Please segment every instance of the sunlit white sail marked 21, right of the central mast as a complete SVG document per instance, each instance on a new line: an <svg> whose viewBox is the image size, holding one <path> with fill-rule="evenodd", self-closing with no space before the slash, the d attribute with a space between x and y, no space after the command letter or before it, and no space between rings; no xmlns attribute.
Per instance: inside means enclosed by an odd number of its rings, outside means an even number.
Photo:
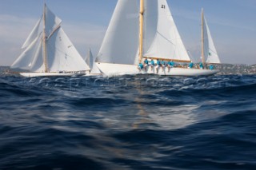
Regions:
<svg viewBox="0 0 256 170"><path fill-rule="evenodd" d="M147 1L149 2L150 0ZM154 41L151 43L150 49L146 51L144 56L173 59L177 61L190 61L190 57L183 45L166 0L158 0L157 2L157 4L151 2L151 5L157 7L157 30L154 35ZM152 6L148 7L152 8ZM147 11L147 9L145 9L145 11ZM148 20L149 19L147 19L147 21ZM150 29L150 27L146 26L145 29ZM145 42L148 42L148 40L145 39Z"/></svg>

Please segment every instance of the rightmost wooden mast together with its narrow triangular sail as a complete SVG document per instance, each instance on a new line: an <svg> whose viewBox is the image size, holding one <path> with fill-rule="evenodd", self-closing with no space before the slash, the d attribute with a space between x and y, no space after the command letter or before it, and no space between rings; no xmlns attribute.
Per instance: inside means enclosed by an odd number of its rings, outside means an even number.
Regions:
<svg viewBox="0 0 256 170"><path fill-rule="evenodd" d="M205 58L206 61L205 61ZM220 64L217 50L214 45L213 38L210 34L209 26L206 22L202 9L202 62L206 64Z"/></svg>

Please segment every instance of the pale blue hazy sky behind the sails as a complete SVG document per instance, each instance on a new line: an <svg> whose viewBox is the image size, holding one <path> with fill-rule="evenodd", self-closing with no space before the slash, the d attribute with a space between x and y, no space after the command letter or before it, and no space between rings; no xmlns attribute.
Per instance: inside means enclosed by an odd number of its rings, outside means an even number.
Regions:
<svg viewBox="0 0 256 170"><path fill-rule="evenodd" d="M154 1L154 0L152 0ZM11 65L46 2L82 57L94 56L118 0L0 0L0 65ZM167 0L186 49L199 60L201 9L222 63L256 64L256 0Z"/></svg>

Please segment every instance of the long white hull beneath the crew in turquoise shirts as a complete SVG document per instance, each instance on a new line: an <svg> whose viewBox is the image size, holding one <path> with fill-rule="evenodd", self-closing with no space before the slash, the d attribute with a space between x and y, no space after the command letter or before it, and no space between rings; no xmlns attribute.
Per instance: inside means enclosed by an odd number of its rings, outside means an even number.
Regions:
<svg viewBox="0 0 256 170"><path fill-rule="evenodd" d="M110 64L110 63L96 63L98 69L102 71L106 76L119 76L119 75L134 75L134 74L158 74L158 75L168 75L168 76L210 76L218 73L218 70L210 69L188 69L188 68L158 68L154 66L151 69L147 66L146 69L138 69L138 65L120 65L120 64Z"/></svg>

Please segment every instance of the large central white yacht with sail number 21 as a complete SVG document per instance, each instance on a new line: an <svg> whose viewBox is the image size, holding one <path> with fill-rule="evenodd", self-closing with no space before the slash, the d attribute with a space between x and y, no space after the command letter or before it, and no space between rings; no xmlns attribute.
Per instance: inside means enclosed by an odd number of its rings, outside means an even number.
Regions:
<svg viewBox="0 0 256 170"><path fill-rule="evenodd" d="M182 65L138 69L146 59L190 63L166 0L118 0L96 64L106 76L154 73L170 76L213 75L217 70Z"/></svg>

